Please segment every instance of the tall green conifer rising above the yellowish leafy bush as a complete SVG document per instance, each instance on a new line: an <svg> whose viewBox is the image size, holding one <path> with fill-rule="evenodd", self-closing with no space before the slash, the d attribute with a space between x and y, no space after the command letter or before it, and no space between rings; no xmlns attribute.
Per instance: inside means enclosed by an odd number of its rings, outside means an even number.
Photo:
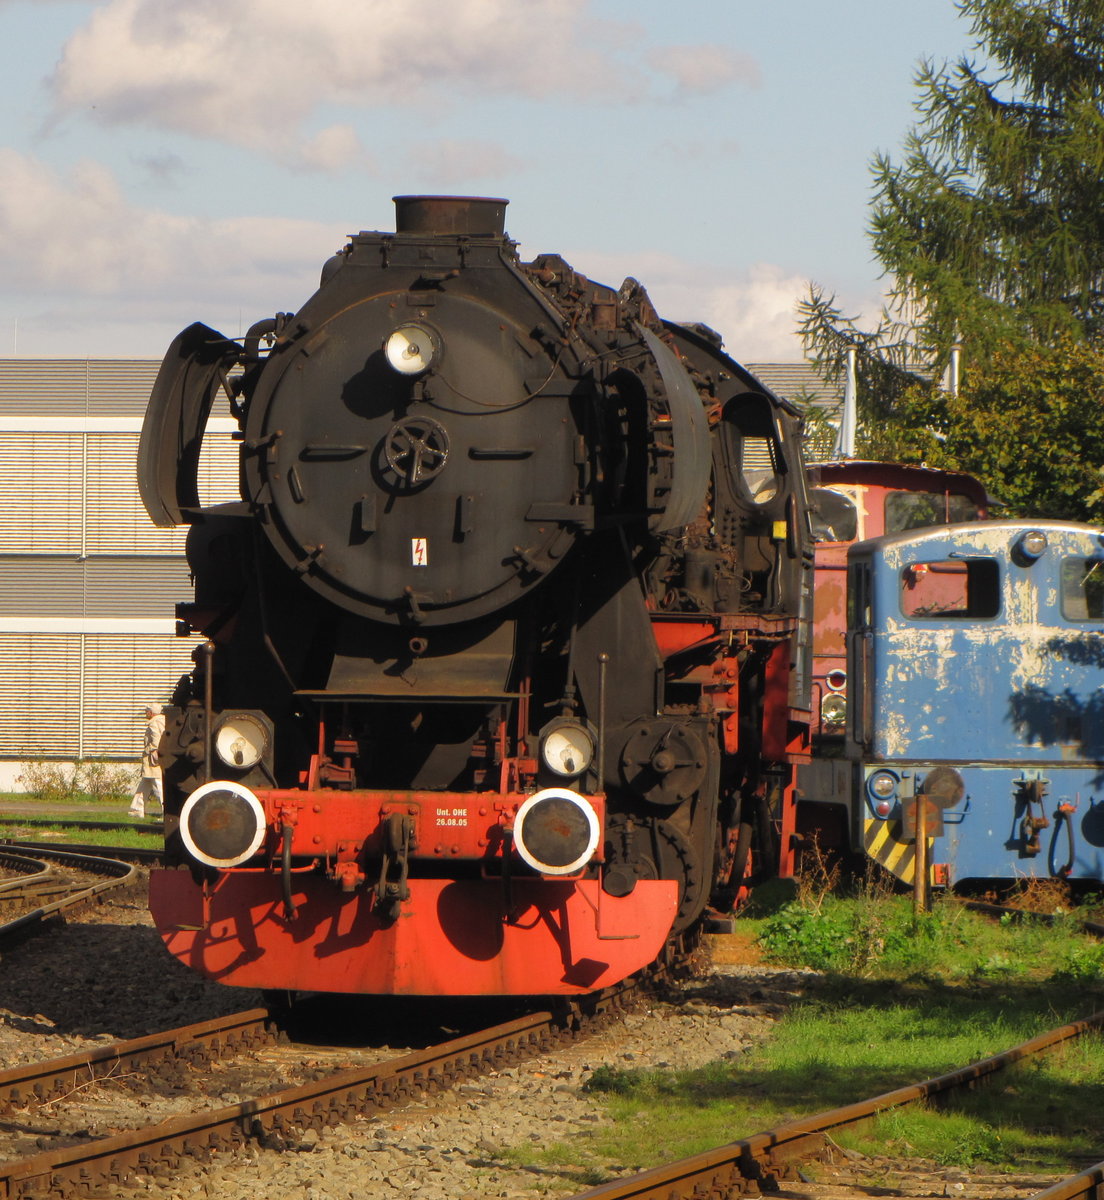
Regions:
<svg viewBox="0 0 1104 1200"><path fill-rule="evenodd" d="M902 162L874 162L893 298L937 356L1104 340L1104 0L958 7L980 58L924 62Z"/></svg>

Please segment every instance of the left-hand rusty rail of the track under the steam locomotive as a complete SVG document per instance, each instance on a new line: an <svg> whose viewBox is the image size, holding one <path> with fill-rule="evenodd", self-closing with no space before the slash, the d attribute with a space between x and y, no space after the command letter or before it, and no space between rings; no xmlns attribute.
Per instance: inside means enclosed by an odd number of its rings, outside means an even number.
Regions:
<svg viewBox="0 0 1104 1200"><path fill-rule="evenodd" d="M251 1008L233 1016L115 1042L64 1058L24 1063L0 1072L0 1112L28 1103L49 1103L92 1080L109 1079L158 1062L206 1063L220 1054L274 1040L269 1010Z"/></svg>

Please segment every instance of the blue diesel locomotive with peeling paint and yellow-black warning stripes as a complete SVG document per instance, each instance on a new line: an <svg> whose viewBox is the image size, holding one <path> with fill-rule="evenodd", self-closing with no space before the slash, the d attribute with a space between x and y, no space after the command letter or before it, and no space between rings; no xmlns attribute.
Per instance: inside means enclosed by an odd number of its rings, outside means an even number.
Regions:
<svg viewBox="0 0 1104 1200"><path fill-rule="evenodd" d="M942 526L847 570L852 850L913 883L919 824L935 884L1104 878L1104 529Z"/></svg>

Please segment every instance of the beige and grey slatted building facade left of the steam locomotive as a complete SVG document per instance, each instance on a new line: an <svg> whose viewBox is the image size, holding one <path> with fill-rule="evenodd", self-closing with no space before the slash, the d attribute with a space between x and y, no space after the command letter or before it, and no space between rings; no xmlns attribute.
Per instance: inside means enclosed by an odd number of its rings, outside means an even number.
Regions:
<svg viewBox="0 0 1104 1200"><path fill-rule="evenodd" d="M158 365L0 359L0 760L137 758L142 708L191 665L185 530L155 528L136 482ZM205 503L238 498L226 424Z"/></svg>

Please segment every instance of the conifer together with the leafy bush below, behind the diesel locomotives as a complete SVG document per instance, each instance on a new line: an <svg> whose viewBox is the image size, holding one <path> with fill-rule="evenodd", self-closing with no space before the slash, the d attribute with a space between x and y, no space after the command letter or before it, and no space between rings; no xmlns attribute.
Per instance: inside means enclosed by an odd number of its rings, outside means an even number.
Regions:
<svg viewBox="0 0 1104 1200"><path fill-rule="evenodd" d="M899 162L872 163L890 305L818 287L806 353L857 350L859 452L979 475L1009 512L1104 520L1104 0L955 0L974 37L922 64ZM941 386L964 347L962 392Z"/></svg>

